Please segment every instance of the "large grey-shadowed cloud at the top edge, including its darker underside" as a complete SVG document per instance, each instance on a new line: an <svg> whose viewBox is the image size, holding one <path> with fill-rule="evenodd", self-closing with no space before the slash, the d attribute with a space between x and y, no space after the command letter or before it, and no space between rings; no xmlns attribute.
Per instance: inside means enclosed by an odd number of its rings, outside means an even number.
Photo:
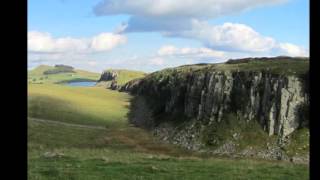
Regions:
<svg viewBox="0 0 320 180"><path fill-rule="evenodd" d="M97 16L130 15L122 32L176 31L191 28L193 19L210 19L240 13L287 0L103 0ZM125 28L124 28L125 27Z"/></svg>

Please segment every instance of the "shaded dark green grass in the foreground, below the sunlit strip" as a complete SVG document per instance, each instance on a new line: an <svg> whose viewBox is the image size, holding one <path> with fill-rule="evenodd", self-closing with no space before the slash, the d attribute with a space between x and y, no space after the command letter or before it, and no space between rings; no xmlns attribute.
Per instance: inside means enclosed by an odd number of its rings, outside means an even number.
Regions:
<svg viewBox="0 0 320 180"><path fill-rule="evenodd" d="M136 128L104 131L29 121L28 129L29 179L308 179L305 165L202 158Z"/></svg>

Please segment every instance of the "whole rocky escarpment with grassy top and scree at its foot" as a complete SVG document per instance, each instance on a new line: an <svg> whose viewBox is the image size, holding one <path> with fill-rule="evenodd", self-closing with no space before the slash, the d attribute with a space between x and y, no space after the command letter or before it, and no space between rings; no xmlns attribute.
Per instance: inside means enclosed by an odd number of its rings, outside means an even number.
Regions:
<svg viewBox="0 0 320 180"><path fill-rule="evenodd" d="M136 102L147 109L148 120L135 118L141 112L133 110L132 121L164 140L195 150L213 145L214 152L241 149L240 154L279 159L284 157L279 148L290 144L290 135L308 128L308 66L308 59L288 57L183 66L152 73L120 90L139 97ZM244 128L258 124L253 134L265 132L267 137L259 135L263 148L252 149L254 143L234 147L255 138L236 130L242 122Z"/></svg>

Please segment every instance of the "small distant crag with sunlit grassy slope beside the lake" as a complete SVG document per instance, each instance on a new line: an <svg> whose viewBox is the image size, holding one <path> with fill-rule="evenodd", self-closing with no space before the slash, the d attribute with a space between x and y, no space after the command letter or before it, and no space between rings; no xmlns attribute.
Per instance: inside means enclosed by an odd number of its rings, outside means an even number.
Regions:
<svg viewBox="0 0 320 180"><path fill-rule="evenodd" d="M105 88L118 89L127 82L142 78L146 73L142 71L133 71L126 69L107 69L98 80L97 86L103 86Z"/></svg>

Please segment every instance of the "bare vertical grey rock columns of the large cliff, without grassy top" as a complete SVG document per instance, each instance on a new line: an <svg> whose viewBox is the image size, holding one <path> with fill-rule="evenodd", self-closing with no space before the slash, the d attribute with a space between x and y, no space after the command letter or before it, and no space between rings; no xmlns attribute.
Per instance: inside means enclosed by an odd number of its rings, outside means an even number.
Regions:
<svg viewBox="0 0 320 180"><path fill-rule="evenodd" d="M299 127L299 108L308 103L303 79L268 72L200 72L129 85L136 86L131 89L138 95L159 99L154 108L160 112L180 110L188 118L209 123L232 112L258 120L269 135L281 137Z"/></svg>

